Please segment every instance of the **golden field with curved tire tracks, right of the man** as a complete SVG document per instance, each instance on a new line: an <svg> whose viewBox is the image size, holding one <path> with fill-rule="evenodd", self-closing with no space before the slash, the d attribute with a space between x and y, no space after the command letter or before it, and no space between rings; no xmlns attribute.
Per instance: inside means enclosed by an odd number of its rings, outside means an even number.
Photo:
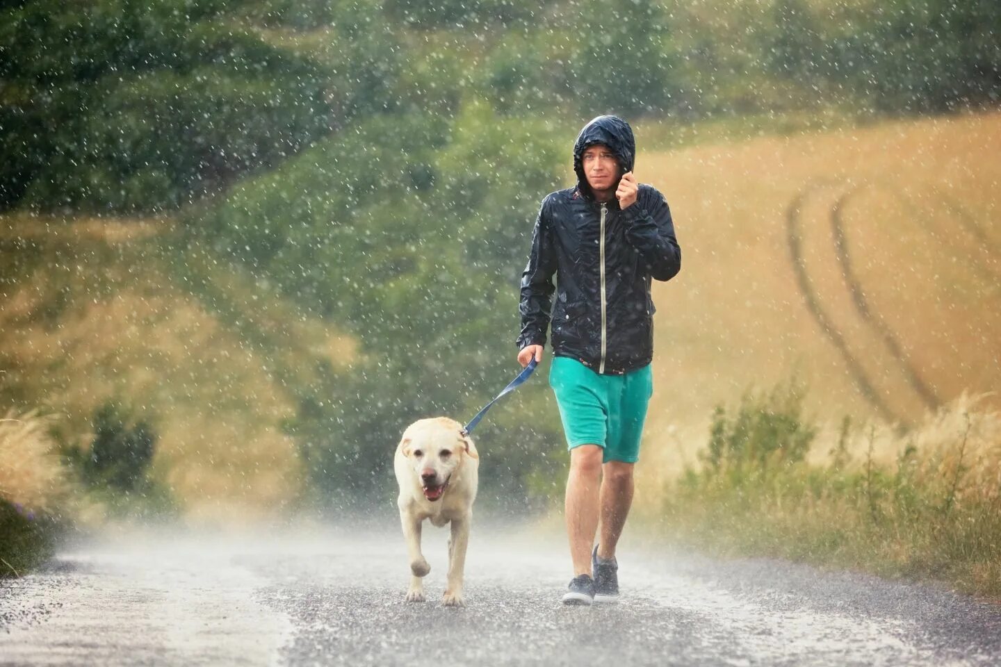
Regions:
<svg viewBox="0 0 1001 667"><path fill-rule="evenodd" d="M655 288L664 465L705 442L716 404L793 376L832 421L914 423L996 390L999 151L994 112L641 152L684 255Z"/></svg>

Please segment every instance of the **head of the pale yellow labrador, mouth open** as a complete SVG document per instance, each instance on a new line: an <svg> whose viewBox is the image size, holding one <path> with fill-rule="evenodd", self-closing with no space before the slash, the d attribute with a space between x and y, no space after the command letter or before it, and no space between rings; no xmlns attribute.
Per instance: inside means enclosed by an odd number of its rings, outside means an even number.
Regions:
<svg viewBox="0 0 1001 667"><path fill-rule="evenodd" d="M479 458L472 439L462 434L454 419L421 419L403 432L400 451L413 469L424 498L439 500L452 475L462 465L463 457Z"/></svg>

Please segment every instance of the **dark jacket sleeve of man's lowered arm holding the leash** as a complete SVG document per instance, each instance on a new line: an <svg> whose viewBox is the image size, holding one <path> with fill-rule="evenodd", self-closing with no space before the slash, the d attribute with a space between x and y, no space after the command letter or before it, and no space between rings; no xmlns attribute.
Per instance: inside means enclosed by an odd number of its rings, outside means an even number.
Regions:
<svg viewBox="0 0 1001 667"><path fill-rule="evenodd" d="M556 271L553 229L547 214L547 201L544 200L532 232L529 263L522 273L522 298L518 308L522 314L522 333L516 341L519 349L527 345L546 344L546 330L550 325L555 291L553 275Z"/></svg>

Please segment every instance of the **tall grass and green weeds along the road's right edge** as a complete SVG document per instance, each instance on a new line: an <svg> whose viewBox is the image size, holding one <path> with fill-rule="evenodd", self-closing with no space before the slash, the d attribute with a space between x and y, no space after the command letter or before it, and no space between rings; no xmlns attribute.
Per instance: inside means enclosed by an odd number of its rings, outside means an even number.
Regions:
<svg viewBox="0 0 1001 667"><path fill-rule="evenodd" d="M913 428L835 428L801 390L714 414L698 465L669 482L668 534L728 556L936 580L1001 599L1001 415L963 397Z"/></svg>

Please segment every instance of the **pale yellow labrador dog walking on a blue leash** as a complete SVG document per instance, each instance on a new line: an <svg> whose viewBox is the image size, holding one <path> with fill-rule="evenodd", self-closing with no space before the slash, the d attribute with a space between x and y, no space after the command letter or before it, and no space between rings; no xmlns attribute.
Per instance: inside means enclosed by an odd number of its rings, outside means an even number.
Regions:
<svg viewBox="0 0 1001 667"><path fill-rule="evenodd" d="M441 527L451 522L448 538L448 583L442 604L462 606L462 569L469 543L472 501L476 497L479 455L462 425L447 417L410 424L396 447L393 469L399 484L399 519L410 558L408 602L423 602L422 578L431 571L420 552L424 519Z"/></svg>

